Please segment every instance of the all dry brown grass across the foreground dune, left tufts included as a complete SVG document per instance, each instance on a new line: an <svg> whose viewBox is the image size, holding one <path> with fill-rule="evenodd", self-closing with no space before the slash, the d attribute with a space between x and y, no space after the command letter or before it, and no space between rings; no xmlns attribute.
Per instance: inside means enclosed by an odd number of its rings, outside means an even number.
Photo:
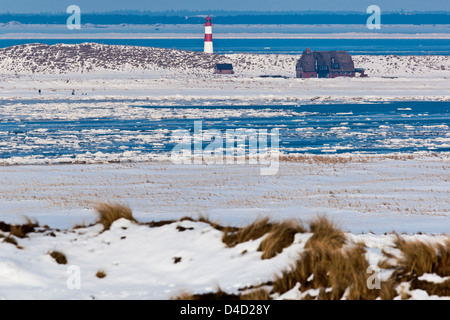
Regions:
<svg viewBox="0 0 450 320"><path fill-rule="evenodd" d="M118 220L126 219L133 225L143 227L144 230L175 226L176 233L184 237L193 232L196 224L205 224L222 235L223 250L246 243L259 243L255 253L261 260L276 259L292 245L297 243L297 235L305 239L297 257L273 275L272 281L254 283L250 287L242 287L236 292L227 292L220 287L211 292L190 293L183 291L174 296L180 300L270 300L270 299L317 299L317 300L392 300L408 299L412 297L411 290L422 290L430 297L450 296L450 238L439 238L434 242L423 242L407 235L385 235L392 239L391 245L382 248L384 260L376 266L386 276L379 279L379 287L370 288L368 279L370 246L364 241L352 240L353 235L345 233L326 217L317 217L304 226L298 221L271 221L269 218L258 219L243 227L229 227L212 222L207 217L198 219L184 217L178 221L167 220L152 223L140 223L134 217L132 210L120 204L99 204L97 207L97 224L103 230L97 230L97 236L111 232L111 225ZM9 234L12 226L1 223L0 238L4 242L15 244L18 252L27 250L27 246L20 247L21 239L18 235ZM28 231L28 241L33 239L34 233L44 234L48 239L54 239L62 233L84 234L83 229L96 228L96 225L78 227L79 229L52 230L33 223L33 231ZM204 228L204 227L203 227ZM74 232L77 230L78 233ZM121 228L126 234L128 228ZM205 229L206 232L207 229ZM132 236L132 235L129 235ZM120 239L126 239L122 235ZM10 239L10 240L6 240ZM22 238L23 239L23 238ZM297 240L296 240L297 239ZM363 238L364 239L364 238ZM76 240L76 239L75 239ZM123 241L123 240L121 240ZM151 239L148 239L151 241ZM159 241L159 239L155 239ZM173 239L176 241L176 239ZM297 242L296 242L297 241ZM29 242L28 246L29 246ZM103 245L109 246L109 242ZM388 242L389 243L389 242ZM87 242L89 244L89 242ZM163 245L163 244L161 244ZM301 248L301 247L299 247ZM70 250L70 249L66 249ZM69 252L67 252L69 253ZM57 264L67 264L66 252L52 250L47 252ZM246 255L242 252L241 255ZM71 259L74 257L71 254ZM173 258L173 265L183 265L182 255ZM176 259L176 260L175 260ZM206 263L206 262L205 262ZM98 266L95 277L103 279L106 272ZM94 273L95 273L94 272ZM185 272L187 272L185 270ZM109 272L108 272L109 273ZM114 279L114 272L108 275ZM434 280L433 280L434 279ZM437 280L436 280L437 279Z"/></svg>

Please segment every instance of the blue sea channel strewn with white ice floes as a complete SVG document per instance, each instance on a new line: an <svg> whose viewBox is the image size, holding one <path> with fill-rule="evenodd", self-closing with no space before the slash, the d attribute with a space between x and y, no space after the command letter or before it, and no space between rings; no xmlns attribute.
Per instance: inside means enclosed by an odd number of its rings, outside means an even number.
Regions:
<svg viewBox="0 0 450 320"><path fill-rule="evenodd" d="M114 112L103 116L95 112L108 103L69 103L61 107L73 112L56 113L57 101L3 101L0 161L39 164L166 157L177 143L173 134L180 129L193 133L195 121L202 121L203 130L224 135L228 129L279 129L284 154L450 151L449 102L147 106L123 101ZM210 142L203 141L203 147Z"/></svg>

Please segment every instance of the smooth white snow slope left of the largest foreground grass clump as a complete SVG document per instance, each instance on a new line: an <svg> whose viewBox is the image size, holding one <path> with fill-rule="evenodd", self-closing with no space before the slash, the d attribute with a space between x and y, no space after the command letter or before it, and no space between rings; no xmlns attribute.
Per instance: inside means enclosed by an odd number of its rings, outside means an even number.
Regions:
<svg viewBox="0 0 450 320"><path fill-rule="evenodd" d="M193 230L180 232L178 226ZM226 249L222 233L204 223L149 228L121 220L101 231L97 225L55 237L33 234L19 241L23 250L0 243L0 299L169 299L183 290L203 292L217 285L237 291L252 281L270 280L307 239L299 237L283 255L261 260L260 241ZM56 264L48 255L53 250L63 252L68 265ZM248 254L242 255L244 250ZM181 258L177 264L175 257ZM70 266L80 268L80 290L67 287ZM105 279L95 276L99 270Z"/></svg>

